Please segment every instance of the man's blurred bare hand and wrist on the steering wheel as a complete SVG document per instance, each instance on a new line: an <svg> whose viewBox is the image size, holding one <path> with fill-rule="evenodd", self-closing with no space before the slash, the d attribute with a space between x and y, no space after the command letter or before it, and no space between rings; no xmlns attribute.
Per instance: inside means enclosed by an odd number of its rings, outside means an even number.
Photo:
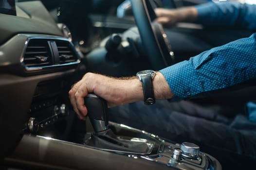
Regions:
<svg viewBox="0 0 256 170"><path fill-rule="evenodd" d="M157 18L155 22L163 24L164 27L172 27L178 22L194 22L198 16L195 7L183 7L177 9L156 8Z"/></svg>

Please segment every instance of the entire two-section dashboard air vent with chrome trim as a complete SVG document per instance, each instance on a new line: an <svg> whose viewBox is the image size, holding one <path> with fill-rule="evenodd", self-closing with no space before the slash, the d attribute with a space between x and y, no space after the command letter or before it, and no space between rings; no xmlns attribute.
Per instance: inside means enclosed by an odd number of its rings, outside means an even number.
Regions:
<svg viewBox="0 0 256 170"><path fill-rule="evenodd" d="M68 39L35 36L27 41L22 60L27 71L70 69L80 63L79 56Z"/></svg>

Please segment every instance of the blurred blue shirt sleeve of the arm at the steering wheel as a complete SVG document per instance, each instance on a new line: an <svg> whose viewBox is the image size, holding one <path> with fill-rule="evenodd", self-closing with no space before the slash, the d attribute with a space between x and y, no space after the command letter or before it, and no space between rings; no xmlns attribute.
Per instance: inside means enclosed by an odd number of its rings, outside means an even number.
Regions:
<svg viewBox="0 0 256 170"><path fill-rule="evenodd" d="M256 30L256 5L238 2L205 3L195 6L197 23L205 26L232 26Z"/></svg>

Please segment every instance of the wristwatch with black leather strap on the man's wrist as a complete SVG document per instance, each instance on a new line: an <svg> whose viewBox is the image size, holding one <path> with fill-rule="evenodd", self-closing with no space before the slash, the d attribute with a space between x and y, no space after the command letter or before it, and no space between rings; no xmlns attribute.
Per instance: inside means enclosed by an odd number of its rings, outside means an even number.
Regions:
<svg viewBox="0 0 256 170"><path fill-rule="evenodd" d="M155 95L153 89L153 78L156 72L154 70L144 70L137 72L136 76L140 79L143 88L144 103L154 104Z"/></svg>

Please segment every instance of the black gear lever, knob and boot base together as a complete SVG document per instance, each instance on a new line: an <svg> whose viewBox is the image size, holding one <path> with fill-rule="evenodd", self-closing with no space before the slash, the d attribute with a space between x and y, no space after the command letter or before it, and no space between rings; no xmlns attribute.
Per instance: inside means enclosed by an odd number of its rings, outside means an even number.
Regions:
<svg viewBox="0 0 256 170"><path fill-rule="evenodd" d="M112 151L125 153L148 153L149 148L145 142L137 142L129 139L120 139L109 129L107 102L96 96L88 94L85 98L85 105L88 110L93 129L96 133L92 133L91 137L85 139L84 144L96 148L103 148Z"/></svg>

